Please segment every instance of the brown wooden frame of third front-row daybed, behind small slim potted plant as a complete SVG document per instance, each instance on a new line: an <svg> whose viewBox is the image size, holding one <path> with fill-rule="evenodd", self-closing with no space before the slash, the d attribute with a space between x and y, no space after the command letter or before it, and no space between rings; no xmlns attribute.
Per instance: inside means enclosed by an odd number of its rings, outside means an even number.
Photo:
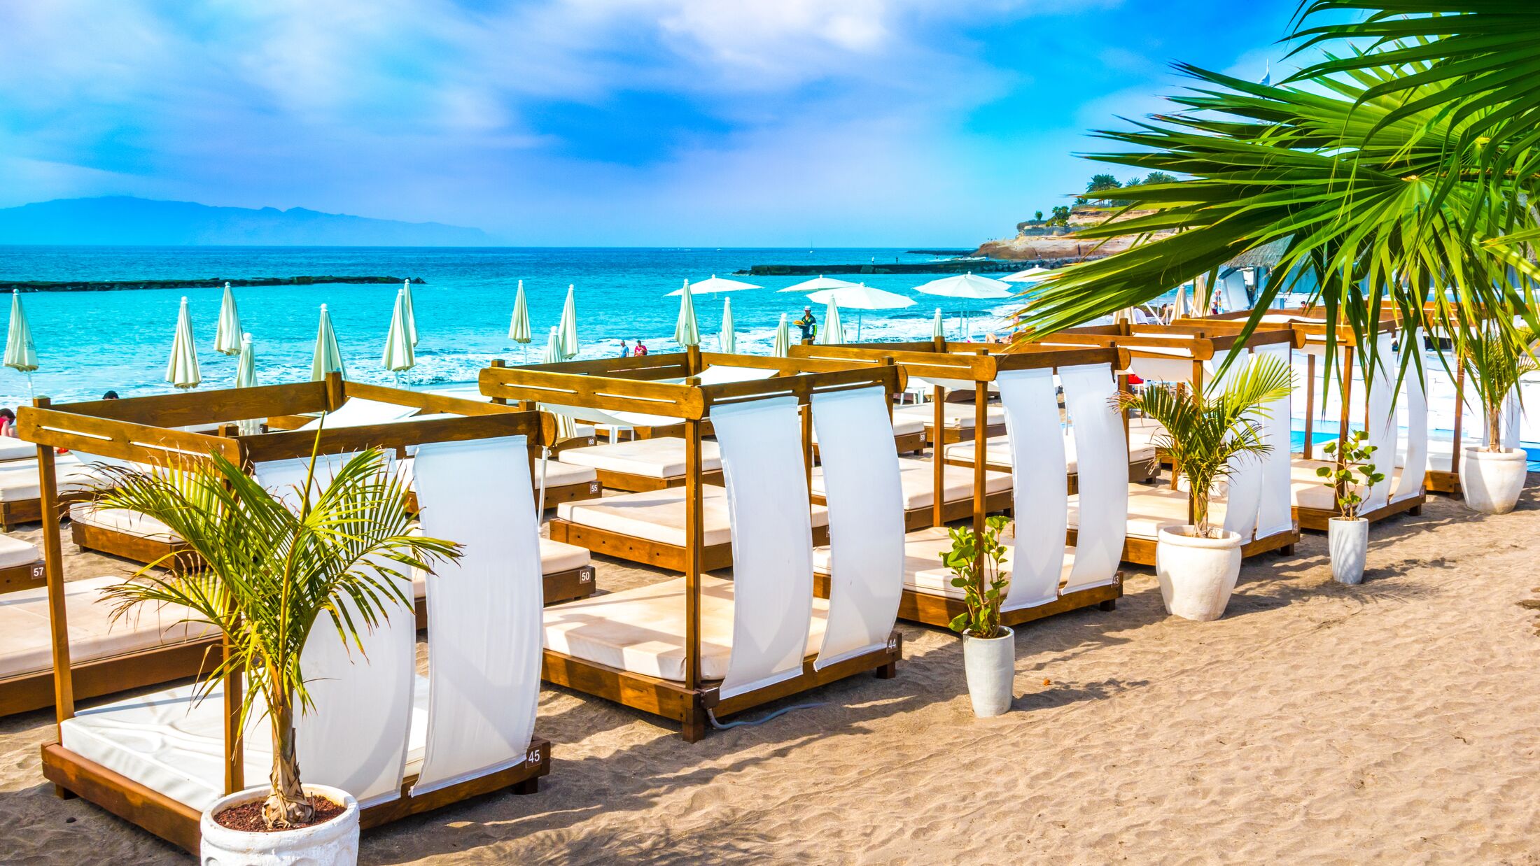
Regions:
<svg viewBox="0 0 1540 866"><path fill-rule="evenodd" d="M978 343L942 343L936 340L935 343L859 343L849 346L793 346L792 354L795 357L812 357L821 360L838 360L838 361L858 361L867 365L882 365L893 363L906 371L910 377L924 378L946 378L973 383L973 406L975 406L975 423L973 423L973 448L975 454L984 454L984 443L989 438L989 431L984 423L987 414L987 397L989 383L995 381L1004 371L1021 371L1021 369L1053 369L1058 371L1064 366L1083 366L1083 365L1109 365L1110 369L1123 369L1129 363L1127 349L1121 348L1047 348L1047 346L1027 346L1018 352L1009 354L990 354L983 349ZM944 389L936 386L936 406L941 406L944 398ZM941 412L936 412L938 421L941 420ZM941 429L939 423L936 429ZM942 437L944 438L944 437ZM984 460L975 460L973 469L973 497L970 501L964 503L949 503L944 505L944 471L946 458L942 449L946 443L935 443L936 451L932 455L932 463L935 472L932 475L933 495L932 508L916 509L926 520L919 526L909 525L907 529L921 529L926 526L946 526L952 520L972 518L973 532L984 532L986 518L990 512L1010 511L1013 506L1013 494L995 494L987 492L986 485L986 465ZM952 506L966 506L967 511ZM929 514L926 514L929 512ZM912 523L907 520L906 523ZM1069 532L1066 543L1073 543L1073 531ZM979 551L983 555L983 551ZM829 595L830 575L816 574L816 586L821 597ZM1001 625L1018 626L1029 623L1032 620L1040 620L1043 617L1052 617L1053 614L1063 614L1066 611L1076 611L1080 608L1089 608L1092 605L1101 608L1103 611L1112 611L1118 598L1123 597L1123 572L1118 572L1116 581L1106 586L1093 586L1090 589L1080 589L1067 595L1061 595L1056 601L1047 605L1040 605L1035 608L1018 608L1013 611L1001 612ZM924 623L929 626L947 628L952 620L967 611L967 606L961 598L950 598L946 595L935 595L930 592L916 592L913 589L904 588L904 595L898 605L898 617L901 620L909 620L915 623Z"/></svg>

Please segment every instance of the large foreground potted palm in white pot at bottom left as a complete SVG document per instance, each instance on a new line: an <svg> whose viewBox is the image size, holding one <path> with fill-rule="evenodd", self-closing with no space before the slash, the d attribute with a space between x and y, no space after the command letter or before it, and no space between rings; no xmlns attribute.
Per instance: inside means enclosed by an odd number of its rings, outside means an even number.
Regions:
<svg viewBox="0 0 1540 866"><path fill-rule="evenodd" d="M266 491L220 455L172 472L114 472L106 508L131 509L176 532L197 568L159 571L109 589L114 617L137 605L183 605L225 632L228 652L199 684L202 700L240 677L239 731L266 715L270 784L203 812L202 858L220 863L353 863L359 806L348 792L303 784L296 711L313 706L300 657L313 629L348 645L396 606L411 615L411 571L459 557L451 541L411 534L408 491L382 452L346 460L319 485L311 458L303 489ZM256 714L256 715L253 715Z"/></svg>

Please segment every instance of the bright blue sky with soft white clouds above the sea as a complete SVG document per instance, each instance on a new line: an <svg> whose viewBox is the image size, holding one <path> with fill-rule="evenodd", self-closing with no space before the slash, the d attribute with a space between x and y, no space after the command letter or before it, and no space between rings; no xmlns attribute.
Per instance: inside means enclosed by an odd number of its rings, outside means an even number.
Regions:
<svg viewBox="0 0 1540 866"><path fill-rule="evenodd" d="M0 0L0 208L142 195L516 246L972 246L1294 0ZM1127 171L1124 174L1133 174Z"/></svg>

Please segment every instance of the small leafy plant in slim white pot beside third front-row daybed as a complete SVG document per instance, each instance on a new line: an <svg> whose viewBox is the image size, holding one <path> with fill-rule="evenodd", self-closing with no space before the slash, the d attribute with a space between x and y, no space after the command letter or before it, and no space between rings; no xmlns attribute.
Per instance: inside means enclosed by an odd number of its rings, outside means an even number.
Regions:
<svg viewBox="0 0 1540 866"><path fill-rule="evenodd" d="M1010 709L1016 675L1015 632L999 625L999 603L1010 586L999 571L1006 558L999 534L1006 523L1003 515L986 518L983 535L972 526L955 526L950 529L952 549L941 554L942 565L955 575L952 586L962 591L967 608L952 618L952 631L962 635L967 694L979 718Z"/></svg>

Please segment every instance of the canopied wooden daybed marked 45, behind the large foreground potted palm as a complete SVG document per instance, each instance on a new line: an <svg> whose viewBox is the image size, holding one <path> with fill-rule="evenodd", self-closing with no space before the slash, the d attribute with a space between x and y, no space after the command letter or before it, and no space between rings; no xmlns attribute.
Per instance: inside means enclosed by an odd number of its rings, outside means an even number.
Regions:
<svg viewBox="0 0 1540 866"><path fill-rule="evenodd" d="M428 678L444 678L445 688L428 692L428 680L416 677L413 683L413 675L400 672L416 664L411 617L391 617L363 635L363 661L350 655L333 632L317 632L305 651L306 671L317 677L311 684L313 698L333 721L336 715L346 721L328 728L306 721L314 717L302 717L299 741L305 778L359 797L363 828L491 791L511 788L533 792L539 777L550 772L550 744L545 740L530 735L528 748L519 746L517 752L500 757L485 769L476 769L474 755L467 757L470 744L434 743L453 735L448 720L456 714L474 715L504 732L527 731L534 717L539 643L530 629L493 628L491 620L502 620L504 626L507 620L530 620L537 617L541 605L537 577L525 575L534 561L539 538L528 494L528 463L508 458L510 449L525 457L533 452L527 443L539 445L548 437L548 425L541 415L493 409L470 417L323 431L319 441L310 431L216 437L171 429L214 420L328 411L342 405L346 388L351 385L331 377L320 383L57 408L48 398L38 398L35 406L22 408L17 423L22 435L40 445L89 449L136 465L177 466L202 455L222 454L251 468L276 489L290 489L291 483L303 478L303 465L313 448L322 455L345 455L367 446L387 452L417 446L417 495L424 520L433 520L425 529L453 534L468 545L465 558L440 566L457 571L453 581L445 580L440 589L437 578L428 578L428 608L434 621L444 617L442 629L430 629L433 661ZM505 437L525 437L525 443ZM487 452L467 458L454 446L485 446ZM436 466L427 474L422 466L425 454ZM40 460L46 509L57 506L51 494L51 457L52 452L45 449ZM425 480L434 486L428 497L422 489ZM491 498L499 501L487 501ZM245 737L243 752L237 748L240 740L234 721L239 718L239 689L225 689L219 697L196 704L191 686L183 684L79 714L75 700L191 675L205 661L205 651L220 652L220 638L209 634L209 626L185 626L202 631L172 649L74 664L72 654L79 646L66 635L71 626L91 629L94 625L72 618L91 611L100 620L105 606L91 598L83 600L83 606L66 606L66 600L74 601L71 597L77 592L89 592L91 581L65 581L57 532L45 532L43 548L52 703L59 718L59 737L42 748L43 775L60 795L83 797L196 852L200 809L223 794L243 789L248 778L257 781L266 769L265 729ZM162 625L179 618L176 611L154 608L142 608L140 615L159 617ZM434 649L439 645L447 646ZM477 657L496 661L467 671L464 660ZM519 675L524 677L522 686ZM471 683L474 688L468 688ZM464 700L464 695L485 695L499 683L508 689L499 701ZM12 683L5 684L5 689L11 688ZM433 703L431 714L413 709L414 701L422 700ZM442 728L434 728L433 714L445 718ZM172 724L177 735L145 731L146 726ZM436 734L442 729L450 729L450 734ZM471 766L457 766L465 761Z"/></svg>

